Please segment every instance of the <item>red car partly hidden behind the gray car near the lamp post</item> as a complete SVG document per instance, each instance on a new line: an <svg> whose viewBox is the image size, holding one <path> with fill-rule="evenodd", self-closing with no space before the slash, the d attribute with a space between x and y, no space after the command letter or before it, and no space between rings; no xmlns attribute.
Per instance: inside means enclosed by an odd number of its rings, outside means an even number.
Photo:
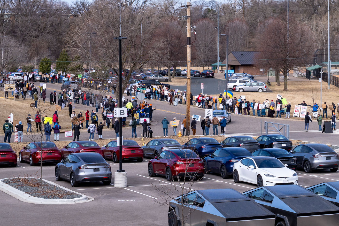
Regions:
<svg viewBox="0 0 339 226"><path fill-rule="evenodd" d="M67 146L61 149L62 159L67 157L67 155L78 152L96 152L104 156L102 149L94 141L81 140L73 141Z"/></svg>

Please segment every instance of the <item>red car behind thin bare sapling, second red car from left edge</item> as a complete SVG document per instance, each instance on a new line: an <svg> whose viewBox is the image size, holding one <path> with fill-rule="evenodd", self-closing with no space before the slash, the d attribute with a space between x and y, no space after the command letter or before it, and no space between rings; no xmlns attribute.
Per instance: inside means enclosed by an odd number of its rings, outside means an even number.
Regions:
<svg viewBox="0 0 339 226"><path fill-rule="evenodd" d="M29 165L35 166L40 163L41 143L32 142L19 152L20 163L29 162ZM60 163L61 151L53 142L42 142L42 162L43 163Z"/></svg>

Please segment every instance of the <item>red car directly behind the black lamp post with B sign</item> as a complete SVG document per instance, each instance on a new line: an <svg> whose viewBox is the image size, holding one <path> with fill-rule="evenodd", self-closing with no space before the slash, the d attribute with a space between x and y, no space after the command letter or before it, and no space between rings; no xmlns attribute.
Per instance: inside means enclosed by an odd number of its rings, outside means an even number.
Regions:
<svg viewBox="0 0 339 226"><path fill-rule="evenodd" d="M142 162L144 159L143 149L134 140L124 140L122 145L122 160L137 160ZM102 146L104 158L112 159L115 163L119 162L119 146L116 140Z"/></svg>

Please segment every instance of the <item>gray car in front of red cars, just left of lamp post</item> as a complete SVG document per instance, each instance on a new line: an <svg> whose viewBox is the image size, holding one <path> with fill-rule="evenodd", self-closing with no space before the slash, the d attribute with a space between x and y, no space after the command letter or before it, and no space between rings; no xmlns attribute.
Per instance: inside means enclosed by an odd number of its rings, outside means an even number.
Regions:
<svg viewBox="0 0 339 226"><path fill-rule="evenodd" d="M55 167L55 180L67 180L72 187L81 182L111 184L111 166L98 153L73 153Z"/></svg>

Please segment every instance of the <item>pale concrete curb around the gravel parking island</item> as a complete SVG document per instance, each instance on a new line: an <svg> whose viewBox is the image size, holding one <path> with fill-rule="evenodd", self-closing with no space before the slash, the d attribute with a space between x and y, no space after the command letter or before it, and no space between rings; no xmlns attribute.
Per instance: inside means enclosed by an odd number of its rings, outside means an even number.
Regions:
<svg viewBox="0 0 339 226"><path fill-rule="evenodd" d="M19 177L12 177L12 178L19 178ZM31 178L36 178L36 177L31 177ZM42 180L46 183L52 184L64 190L67 190L67 191L70 191L76 194L80 194L81 197L75 198L75 199L42 199L42 198L31 196L23 191L20 191L12 186L9 186L8 184L3 183L2 180L6 180L6 179L11 179L11 178L3 178L0 180L0 190L25 203L43 204L43 205L64 205L64 204L85 203L85 202L91 202L94 200L94 198L91 196L87 196L79 192L72 191L68 188L60 186L51 181L46 181L45 179L42 179Z"/></svg>

